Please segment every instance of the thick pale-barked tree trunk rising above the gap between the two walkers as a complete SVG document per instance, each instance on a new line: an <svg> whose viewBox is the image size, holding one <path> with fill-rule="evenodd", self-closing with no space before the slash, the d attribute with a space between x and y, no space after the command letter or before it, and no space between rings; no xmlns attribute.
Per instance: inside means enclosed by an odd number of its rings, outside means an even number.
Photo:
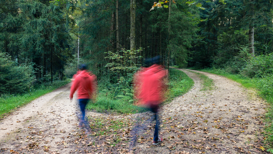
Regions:
<svg viewBox="0 0 273 154"><path fill-rule="evenodd" d="M136 50L136 0L130 0L131 15L131 34L130 34L130 50Z"/></svg>

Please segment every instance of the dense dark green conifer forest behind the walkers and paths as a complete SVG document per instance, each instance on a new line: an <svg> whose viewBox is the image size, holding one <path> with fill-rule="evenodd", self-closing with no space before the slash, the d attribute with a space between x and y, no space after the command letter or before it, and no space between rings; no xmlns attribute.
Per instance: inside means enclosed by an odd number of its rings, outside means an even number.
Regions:
<svg viewBox="0 0 273 154"><path fill-rule="evenodd" d="M71 78L79 63L130 86L145 59L246 77L273 71L272 1L0 0L0 93ZM79 53L79 54L78 54Z"/></svg>

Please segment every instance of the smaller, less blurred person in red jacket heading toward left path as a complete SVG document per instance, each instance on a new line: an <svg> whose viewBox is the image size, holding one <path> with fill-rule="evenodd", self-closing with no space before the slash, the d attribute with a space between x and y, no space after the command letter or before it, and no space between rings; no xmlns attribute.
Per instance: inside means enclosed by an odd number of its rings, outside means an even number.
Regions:
<svg viewBox="0 0 273 154"><path fill-rule="evenodd" d="M87 66L85 64L81 65L81 72L75 77L69 96L70 100L72 100L74 93L78 90L77 97L82 112L82 117L79 123L80 127L82 127L83 124L86 124L86 127L89 126L87 126L88 122L85 121L85 107L90 99L95 99L97 89L96 75L87 72L86 68Z"/></svg>

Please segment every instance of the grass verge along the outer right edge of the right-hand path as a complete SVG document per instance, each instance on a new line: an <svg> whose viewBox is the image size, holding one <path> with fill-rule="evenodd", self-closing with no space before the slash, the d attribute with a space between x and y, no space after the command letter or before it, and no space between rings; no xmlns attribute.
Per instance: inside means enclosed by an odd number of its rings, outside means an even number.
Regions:
<svg viewBox="0 0 273 154"><path fill-rule="evenodd" d="M250 79L239 74L229 74L224 72L224 70L219 69L202 69L200 71L222 75L240 83L245 88L256 89L258 95L268 102L269 106L264 118L264 121L266 122L265 133L263 133L266 138L264 146L267 148L268 152L273 153L273 75Z"/></svg>

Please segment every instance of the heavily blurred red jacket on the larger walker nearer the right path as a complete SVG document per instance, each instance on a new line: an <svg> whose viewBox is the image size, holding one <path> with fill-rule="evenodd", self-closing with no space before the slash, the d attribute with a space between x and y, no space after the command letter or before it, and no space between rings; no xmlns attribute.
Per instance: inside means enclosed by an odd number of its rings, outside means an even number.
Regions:
<svg viewBox="0 0 273 154"><path fill-rule="evenodd" d="M157 64L138 71L134 76L135 96L138 103L150 106L164 101L167 75L168 71Z"/></svg>

